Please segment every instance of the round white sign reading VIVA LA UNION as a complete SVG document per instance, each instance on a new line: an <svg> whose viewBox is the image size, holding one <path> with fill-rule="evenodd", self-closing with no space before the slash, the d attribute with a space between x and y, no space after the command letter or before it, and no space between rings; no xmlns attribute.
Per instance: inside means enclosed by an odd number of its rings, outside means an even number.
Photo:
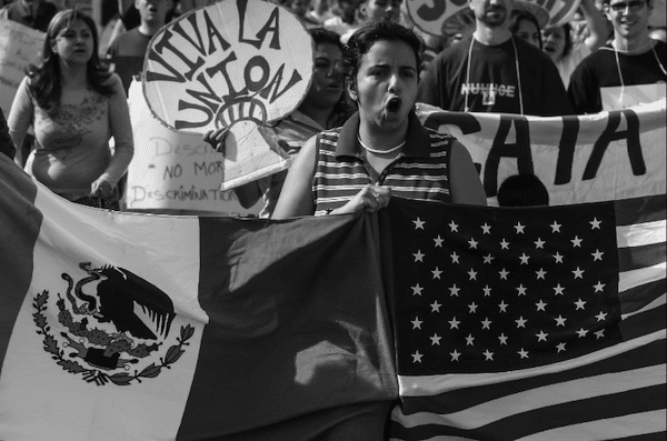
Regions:
<svg viewBox="0 0 667 441"><path fill-rule="evenodd" d="M179 17L152 38L143 94L156 118L176 130L263 126L300 104L310 86L312 52L306 28L283 7L218 1Z"/></svg>

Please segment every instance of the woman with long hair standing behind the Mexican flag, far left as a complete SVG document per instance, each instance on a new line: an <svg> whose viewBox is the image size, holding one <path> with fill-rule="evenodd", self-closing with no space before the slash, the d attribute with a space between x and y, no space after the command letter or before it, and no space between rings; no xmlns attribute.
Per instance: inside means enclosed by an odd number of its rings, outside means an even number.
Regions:
<svg viewBox="0 0 667 441"><path fill-rule="evenodd" d="M26 171L70 201L118 209L115 189L132 159L132 128L120 78L100 66L92 19L78 9L57 13L42 60L19 86L9 113L14 146L34 129ZM22 163L19 153L14 160Z"/></svg>

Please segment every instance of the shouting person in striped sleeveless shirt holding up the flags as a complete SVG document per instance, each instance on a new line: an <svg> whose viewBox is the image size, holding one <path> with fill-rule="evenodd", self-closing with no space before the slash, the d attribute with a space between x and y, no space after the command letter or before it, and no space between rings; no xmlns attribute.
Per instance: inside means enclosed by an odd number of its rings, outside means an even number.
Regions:
<svg viewBox="0 0 667 441"><path fill-rule="evenodd" d="M303 146L272 218L374 212L391 196L486 204L466 148L415 114L422 51L424 41L392 21L350 37L342 68L359 111Z"/></svg>

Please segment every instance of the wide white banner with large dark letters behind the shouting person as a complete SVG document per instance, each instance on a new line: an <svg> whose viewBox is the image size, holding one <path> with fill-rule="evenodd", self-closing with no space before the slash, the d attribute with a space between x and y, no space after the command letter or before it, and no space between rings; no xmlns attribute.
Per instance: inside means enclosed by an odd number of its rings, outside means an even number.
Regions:
<svg viewBox="0 0 667 441"><path fill-rule="evenodd" d="M420 120L470 152L489 204L502 181L535 173L550 204L660 194L666 190L665 100L587 116L446 112L418 104Z"/></svg>

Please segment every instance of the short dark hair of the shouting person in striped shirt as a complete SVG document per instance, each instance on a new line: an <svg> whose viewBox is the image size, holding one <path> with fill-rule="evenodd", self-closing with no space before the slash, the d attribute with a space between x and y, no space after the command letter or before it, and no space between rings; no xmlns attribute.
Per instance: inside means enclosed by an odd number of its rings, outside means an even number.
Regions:
<svg viewBox="0 0 667 441"><path fill-rule="evenodd" d="M359 70L361 56L368 53L370 48L379 40L405 41L412 51L417 60L417 70L421 66L421 54L425 44L421 37L415 31L398 24L391 20L379 20L362 26L350 37L342 50L342 76L345 79L355 79Z"/></svg>

